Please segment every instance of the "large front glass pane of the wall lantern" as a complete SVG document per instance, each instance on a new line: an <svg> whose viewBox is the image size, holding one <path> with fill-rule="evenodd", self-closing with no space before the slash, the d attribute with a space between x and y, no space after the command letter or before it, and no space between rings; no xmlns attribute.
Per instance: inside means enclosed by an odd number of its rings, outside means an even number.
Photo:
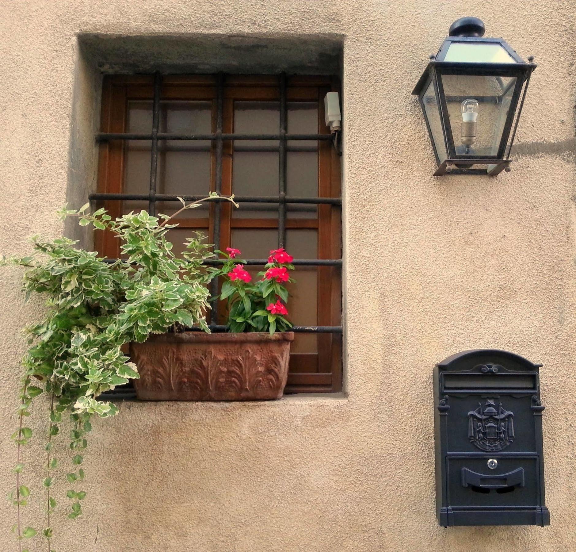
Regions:
<svg viewBox="0 0 576 552"><path fill-rule="evenodd" d="M516 77L442 75L450 128L457 156L497 156ZM465 100L476 100L478 104ZM477 115L464 115L464 111ZM475 128L465 120L475 120Z"/></svg>

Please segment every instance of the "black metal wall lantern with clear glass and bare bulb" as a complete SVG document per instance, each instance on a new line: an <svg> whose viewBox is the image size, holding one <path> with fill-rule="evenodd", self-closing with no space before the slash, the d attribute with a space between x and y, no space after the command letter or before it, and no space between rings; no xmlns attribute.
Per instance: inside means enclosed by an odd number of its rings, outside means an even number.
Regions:
<svg viewBox="0 0 576 552"><path fill-rule="evenodd" d="M418 94L438 162L435 176L494 176L509 170L536 63L532 57L526 63L504 40L483 35L484 23L477 17L454 21L412 91Z"/></svg>

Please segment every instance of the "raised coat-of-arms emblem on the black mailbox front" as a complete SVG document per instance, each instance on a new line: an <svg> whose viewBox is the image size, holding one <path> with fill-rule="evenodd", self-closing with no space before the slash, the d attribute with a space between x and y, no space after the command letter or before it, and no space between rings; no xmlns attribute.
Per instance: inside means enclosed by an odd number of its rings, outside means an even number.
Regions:
<svg viewBox="0 0 576 552"><path fill-rule="evenodd" d="M482 451L498 452L514 441L514 413L487 399L468 413L468 438Z"/></svg>

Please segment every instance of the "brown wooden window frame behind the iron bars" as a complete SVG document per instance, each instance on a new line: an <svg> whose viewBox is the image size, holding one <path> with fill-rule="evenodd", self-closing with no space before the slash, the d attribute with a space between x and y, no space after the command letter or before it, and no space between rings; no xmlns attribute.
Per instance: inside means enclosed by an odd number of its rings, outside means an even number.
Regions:
<svg viewBox="0 0 576 552"><path fill-rule="evenodd" d="M219 80L220 79L220 80ZM100 201L112 217L122 213L122 199L109 198L106 194L122 194L124 186L126 139L110 139L105 134L126 134L128 102L132 100L154 100L155 87L160 90L161 100L204 100L212 103L212 133L217 133L218 101L221 101L223 134L234 133L234 101L280 101L282 86L285 102L316 101L318 104L318 133L329 135L324 124L325 94L338 90L338 82L331 77L310 76L249 76L228 75L225 84L218 75L164 75L161 84L158 75L105 75L103 80L100 149L98 159L97 193L92 201ZM220 94L220 96L219 96ZM103 139L104 137L104 139ZM221 141L221 189L223 195L232 194L233 141ZM340 198L340 156L332 141L319 139L318 148L318 197ZM211 142L210 191L217 190L217 141ZM154 169L154 167L153 167ZM159 200L161 201L161 200ZM150 202L150 206L153 203ZM234 218L228 202L211 203L207 217L179 218L181 228L207 230L210 243L214 243L216 210L219 214L218 248L230 247L232 231L245 229L278 229L281 217ZM192 211L194 212L194 211ZM318 259L340 259L341 257L341 205L318 203L316 218L285 217L285 228L310 228L318 232ZM119 242L113 236L96 230L94 244L100 254L108 258L119 256ZM287 393L294 392L337 392L342 390L342 278L339 264L317 266L318 327L340 328L339 331L317 333L316 353L295 353L290 358L290 372L286 385ZM297 285L297 284L296 284ZM219 305L219 316L225 305ZM297 321L295 321L297 322ZM297 327L306 331L305 327ZM316 358L312 358L316 357ZM324 370L324 371L319 371Z"/></svg>

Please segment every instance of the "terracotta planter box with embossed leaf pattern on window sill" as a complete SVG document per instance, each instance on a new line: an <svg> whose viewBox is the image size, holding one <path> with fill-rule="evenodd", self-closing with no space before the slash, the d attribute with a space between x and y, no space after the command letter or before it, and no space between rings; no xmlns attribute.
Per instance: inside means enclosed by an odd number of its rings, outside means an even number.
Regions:
<svg viewBox="0 0 576 552"><path fill-rule="evenodd" d="M141 400L279 399L294 332L150 335L130 343Z"/></svg>

